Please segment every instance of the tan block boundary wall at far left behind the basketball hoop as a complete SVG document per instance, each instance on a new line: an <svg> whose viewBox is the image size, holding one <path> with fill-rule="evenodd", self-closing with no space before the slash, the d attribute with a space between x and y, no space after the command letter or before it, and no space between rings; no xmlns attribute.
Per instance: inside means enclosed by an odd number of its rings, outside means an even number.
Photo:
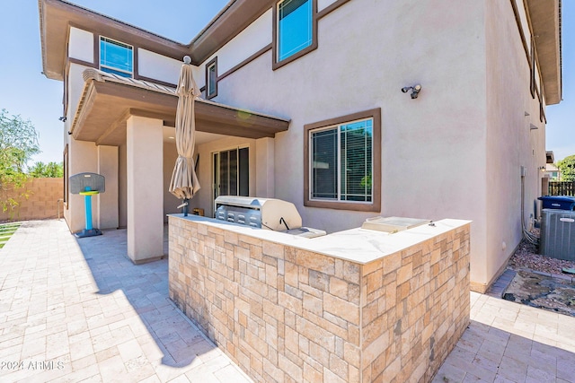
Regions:
<svg viewBox="0 0 575 383"><path fill-rule="evenodd" d="M3 191L4 193L4 191ZM26 193L28 198L21 196ZM58 208L63 216L64 178L31 178L25 187L5 192L13 196L20 205L13 212L0 210L0 221L25 221L57 218ZM13 213L13 214L11 214Z"/></svg>

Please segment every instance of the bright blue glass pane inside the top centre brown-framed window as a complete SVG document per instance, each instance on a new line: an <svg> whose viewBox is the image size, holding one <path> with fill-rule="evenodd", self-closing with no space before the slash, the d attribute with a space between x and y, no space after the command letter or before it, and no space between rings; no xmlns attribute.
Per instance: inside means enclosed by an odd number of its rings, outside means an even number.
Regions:
<svg viewBox="0 0 575 383"><path fill-rule="evenodd" d="M312 45L312 0L278 4L278 61Z"/></svg>

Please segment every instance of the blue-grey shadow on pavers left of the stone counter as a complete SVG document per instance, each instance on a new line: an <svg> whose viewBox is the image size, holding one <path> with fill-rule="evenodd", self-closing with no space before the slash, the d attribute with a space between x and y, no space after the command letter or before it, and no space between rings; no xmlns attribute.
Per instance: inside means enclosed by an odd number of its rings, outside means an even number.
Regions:
<svg viewBox="0 0 575 383"><path fill-rule="evenodd" d="M167 227L164 253L167 254ZM127 231L104 231L102 236L77 239L92 271L98 293L123 292L142 323L164 352L169 366L190 364L198 354L216 348L168 298L168 259L134 265L127 255ZM110 318L106 308L104 318Z"/></svg>

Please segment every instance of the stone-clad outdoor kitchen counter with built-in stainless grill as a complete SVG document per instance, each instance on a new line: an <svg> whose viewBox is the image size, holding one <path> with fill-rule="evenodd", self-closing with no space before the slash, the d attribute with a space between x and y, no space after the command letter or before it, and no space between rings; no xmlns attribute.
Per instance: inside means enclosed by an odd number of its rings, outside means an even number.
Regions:
<svg viewBox="0 0 575 383"><path fill-rule="evenodd" d="M171 299L255 381L429 381L469 324L470 222L325 233L294 205L169 216Z"/></svg>

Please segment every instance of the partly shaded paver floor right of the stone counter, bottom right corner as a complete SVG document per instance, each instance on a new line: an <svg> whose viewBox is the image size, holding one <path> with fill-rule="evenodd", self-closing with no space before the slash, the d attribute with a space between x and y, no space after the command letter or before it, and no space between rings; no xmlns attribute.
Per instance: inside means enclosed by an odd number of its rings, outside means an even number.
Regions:
<svg viewBox="0 0 575 383"><path fill-rule="evenodd" d="M575 318L472 292L471 323L433 383L573 382L574 328Z"/></svg>

